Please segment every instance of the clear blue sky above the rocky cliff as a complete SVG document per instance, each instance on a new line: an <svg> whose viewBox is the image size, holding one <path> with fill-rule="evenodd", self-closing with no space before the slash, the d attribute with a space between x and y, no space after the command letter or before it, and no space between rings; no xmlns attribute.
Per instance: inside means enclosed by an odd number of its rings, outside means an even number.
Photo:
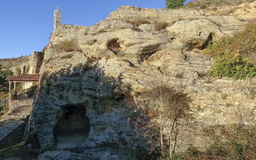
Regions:
<svg viewBox="0 0 256 160"><path fill-rule="evenodd" d="M53 10L57 5L62 24L90 26L121 5L165 8L165 0L1 0L0 58L41 51L53 30Z"/></svg>

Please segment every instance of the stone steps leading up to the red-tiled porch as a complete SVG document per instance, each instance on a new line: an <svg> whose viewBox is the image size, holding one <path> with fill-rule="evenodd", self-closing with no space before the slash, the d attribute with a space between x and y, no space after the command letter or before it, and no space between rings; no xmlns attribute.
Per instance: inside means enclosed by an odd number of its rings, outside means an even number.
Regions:
<svg viewBox="0 0 256 160"><path fill-rule="evenodd" d="M22 104L14 109L11 110L11 112L4 116L2 119L0 119L0 122L3 121L11 121L11 120L19 120L26 118L32 109L33 100L26 100L26 104Z"/></svg>

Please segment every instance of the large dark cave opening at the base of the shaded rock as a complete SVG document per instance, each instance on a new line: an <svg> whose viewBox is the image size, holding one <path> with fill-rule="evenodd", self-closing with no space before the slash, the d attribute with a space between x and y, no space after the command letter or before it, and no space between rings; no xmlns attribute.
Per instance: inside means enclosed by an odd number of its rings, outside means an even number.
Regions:
<svg viewBox="0 0 256 160"><path fill-rule="evenodd" d="M53 128L56 148L74 148L86 140L90 132L90 120L83 106L67 106L59 122Z"/></svg>

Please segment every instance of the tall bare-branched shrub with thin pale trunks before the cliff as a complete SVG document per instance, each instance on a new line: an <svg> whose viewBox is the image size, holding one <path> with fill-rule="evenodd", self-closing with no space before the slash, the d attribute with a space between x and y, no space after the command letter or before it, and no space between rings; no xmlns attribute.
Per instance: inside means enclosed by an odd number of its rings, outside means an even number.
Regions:
<svg viewBox="0 0 256 160"><path fill-rule="evenodd" d="M163 67L166 66L164 60ZM140 115L130 120L142 129L141 134L148 139L149 153L160 153L162 158L172 157L182 143L178 144L178 136L181 131L188 131L192 119L189 114L191 100L184 93L188 84L170 85L166 82L164 68L162 72L156 71L152 65L149 68L148 72L138 72L140 84L147 91L141 93L138 101L144 106Z"/></svg>

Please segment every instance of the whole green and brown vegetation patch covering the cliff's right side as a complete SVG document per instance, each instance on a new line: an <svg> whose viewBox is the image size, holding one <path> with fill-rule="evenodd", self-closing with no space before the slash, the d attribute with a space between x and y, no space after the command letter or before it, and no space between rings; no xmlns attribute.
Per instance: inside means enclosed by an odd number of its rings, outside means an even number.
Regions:
<svg viewBox="0 0 256 160"><path fill-rule="evenodd" d="M256 75L256 23L249 23L233 37L211 42L202 52L215 61L212 76L245 79Z"/></svg>

